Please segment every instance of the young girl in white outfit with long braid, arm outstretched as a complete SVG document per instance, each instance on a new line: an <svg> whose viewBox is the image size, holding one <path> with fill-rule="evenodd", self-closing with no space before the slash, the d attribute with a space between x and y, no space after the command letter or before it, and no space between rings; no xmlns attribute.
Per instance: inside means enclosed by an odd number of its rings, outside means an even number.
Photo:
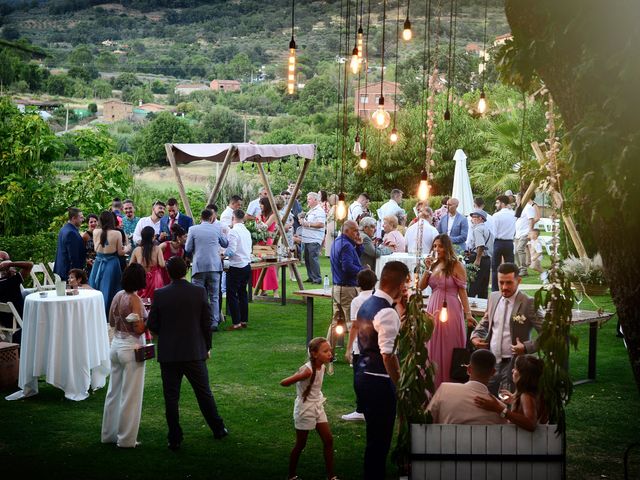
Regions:
<svg viewBox="0 0 640 480"><path fill-rule="evenodd" d="M338 480L333 474L333 435L324 413L322 379L326 365L331 362L333 353L326 339L316 337L309 342L309 361L298 371L280 382L283 387L296 384L296 401L293 406L293 421L296 428L296 444L289 457L289 480L299 480L296 475L300 454L307 444L310 430L317 430L322 439L324 462L327 478Z"/></svg>

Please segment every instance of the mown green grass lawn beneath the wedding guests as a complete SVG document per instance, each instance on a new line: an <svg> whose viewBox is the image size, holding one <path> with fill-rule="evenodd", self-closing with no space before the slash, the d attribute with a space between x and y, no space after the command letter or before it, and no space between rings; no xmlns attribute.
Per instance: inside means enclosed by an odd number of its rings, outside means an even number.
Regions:
<svg viewBox="0 0 640 480"><path fill-rule="evenodd" d="M328 261L322 261L322 270L329 272ZM526 281L538 282L534 276ZM294 288L290 282L288 291ZM594 300L612 309L608 297ZM589 309L587 303L585 299L582 307ZM314 333L324 335L330 302L316 300L315 313ZM11 473L21 478L67 479L286 478L295 435L295 389L282 388L278 382L305 361L305 319L304 305L253 303L248 329L214 334L209 374L230 435L222 441L213 439L191 389L184 386L180 412L185 439L177 453L166 448L160 370L155 361L147 362L138 437L143 445L135 450L100 443L106 389L83 402L72 402L61 390L41 381L35 397L0 400L2 478L11 478ZM640 399L622 341L615 337L615 322L614 317L599 332L598 381L576 387L567 408L569 478L622 479L624 449L638 441ZM574 378L583 378L588 327L579 326L575 332L580 344L572 354L571 371ZM342 353L338 351L335 375L325 377L323 391L334 434L336 473L342 479L356 479L361 478L364 424L340 420L340 415L354 408L352 372ZM325 478L321 452L318 436L310 435L298 469L305 480ZM388 472L394 478L391 465Z"/></svg>

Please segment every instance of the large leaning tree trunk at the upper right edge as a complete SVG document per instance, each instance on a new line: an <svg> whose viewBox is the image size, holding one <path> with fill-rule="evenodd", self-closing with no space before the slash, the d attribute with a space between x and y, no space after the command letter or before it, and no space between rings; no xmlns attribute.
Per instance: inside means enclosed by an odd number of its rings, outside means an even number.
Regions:
<svg viewBox="0 0 640 480"><path fill-rule="evenodd" d="M525 46L566 130L572 132L574 179L582 182L589 174L600 176L593 162L585 159L590 137L579 131L585 118L591 120L590 127L596 127L594 148L606 145L602 139L609 134L628 146L612 149L609 156L602 152L600 168L615 170L601 179L599 189L590 193L586 189L580 201L593 209L590 228L602 254L640 390L639 5L636 0L506 0L512 33Z"/></svg>

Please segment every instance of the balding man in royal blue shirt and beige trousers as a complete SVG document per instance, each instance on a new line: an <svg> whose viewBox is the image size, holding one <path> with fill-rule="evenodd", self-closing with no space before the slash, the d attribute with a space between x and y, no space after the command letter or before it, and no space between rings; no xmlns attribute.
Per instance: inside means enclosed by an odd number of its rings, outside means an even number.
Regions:
<svg viewBox="0 0 640 480"><path fill-rule="evenodd" d="M342 225L342 235L331 245L329 257L333 277L333 319L329 327L331 329L341 318L345 323L351 318L351 301L358 295L358 273L363 269L360 263L362 249L358 224L347 220ZM333 335L329 337L334 339Z"/></svg>

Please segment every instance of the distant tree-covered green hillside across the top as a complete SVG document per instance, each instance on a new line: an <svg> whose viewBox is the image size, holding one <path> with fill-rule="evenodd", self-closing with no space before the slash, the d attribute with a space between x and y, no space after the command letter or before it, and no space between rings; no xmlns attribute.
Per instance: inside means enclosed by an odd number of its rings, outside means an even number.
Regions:
<svg viewBox="0 0 640 480"><path fill-rule="evenodd" d="M434 14L440 11L445 16L440 41L446 42L450 4L432 3ZM507 32L508 25L503 1L491 0L489 4L488 37L492 39ZM319 63L333 61L339 53L346 55L344 45L340 52L341 5L346 8L346 2L339 0L296 2L296 40L303 79L312 77ZM352 11L355 6L352 2ZM369 18L366 7L365 28ZM397 7L396 2L387 2L387 59L395 55ZM2 36L9 40L24 37L46 48L51 53L49 66L82 66L71 52L78 45L88 45L103 72L154 73L183 79L250 80L262 66L265 69L260 73L266 77L281 78L291 35L289 0L0 1L0 14ZM401 22L405 15L406 2L401 2ZM470 42L482 44L483 16L482 0L459 2L458 50ZM401 49L401 60L420 54L424 17L425 4L412 2L410 18L418 40ZM371 2L370 19L369 54L375 64L380 58L382 2Z"/></svg>

